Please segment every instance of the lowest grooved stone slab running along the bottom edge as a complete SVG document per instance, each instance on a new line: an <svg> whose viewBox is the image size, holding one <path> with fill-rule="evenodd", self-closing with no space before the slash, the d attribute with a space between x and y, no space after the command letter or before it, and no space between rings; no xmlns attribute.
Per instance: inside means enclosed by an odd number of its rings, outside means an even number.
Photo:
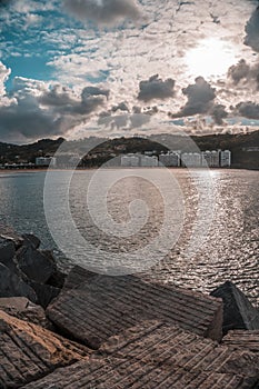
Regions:
<svg viewBox="0 0 259 389"><path fill-rule="evenodd" d="M208 371L186 371L132 363L109 358L77 362L57 369L46 378L23 389L251 389L258 388L255 378Z"/></svg>

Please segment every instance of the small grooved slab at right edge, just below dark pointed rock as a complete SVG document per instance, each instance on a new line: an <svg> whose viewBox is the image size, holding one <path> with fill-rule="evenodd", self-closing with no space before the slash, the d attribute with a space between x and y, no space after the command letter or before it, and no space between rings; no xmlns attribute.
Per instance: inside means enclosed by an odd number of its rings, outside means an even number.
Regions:
<svg viewBox="0 0 259 389"><path fill-rule="evenodd" d="M259 353L259 330L232 330L222 339L222 345Z"/></svg>

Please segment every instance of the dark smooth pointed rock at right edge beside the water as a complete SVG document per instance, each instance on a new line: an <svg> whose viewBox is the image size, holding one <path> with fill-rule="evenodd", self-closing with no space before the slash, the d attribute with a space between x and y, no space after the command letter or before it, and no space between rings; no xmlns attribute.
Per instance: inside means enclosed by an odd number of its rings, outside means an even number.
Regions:
<svg viewBox="0 0 259 389"><path fill-rule="evenodd" d="M223 300L225 335L232 329L259 329L259 311L232 282L225 282L213 290L211 296Z"/></svg>

